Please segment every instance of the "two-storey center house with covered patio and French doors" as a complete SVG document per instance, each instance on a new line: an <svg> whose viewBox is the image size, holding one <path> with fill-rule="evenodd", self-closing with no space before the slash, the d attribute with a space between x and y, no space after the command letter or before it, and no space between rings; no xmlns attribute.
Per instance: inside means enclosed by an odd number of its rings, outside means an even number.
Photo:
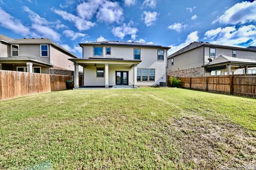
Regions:
<svg viewBox="0 0 256 170"><path fill-rule="evenodd" d="M84 68L84 87L157 86L166 82L167 50L170 47L137 42L81 43L82 59L75 63Z"/></svg>

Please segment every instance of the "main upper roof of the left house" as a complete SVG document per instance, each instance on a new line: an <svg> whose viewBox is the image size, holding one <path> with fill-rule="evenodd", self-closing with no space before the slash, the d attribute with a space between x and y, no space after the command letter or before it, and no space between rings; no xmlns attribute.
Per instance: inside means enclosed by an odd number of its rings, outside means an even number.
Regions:
<svg viewBox="0 0 256 170"><path fill-rule="evenodd" d="M52 44L53 46L59 48L59 50L62 50L63 52L73 56L73 58L77 58L77 56L75 54L69 52L68 50L66 50L65 48L60 46L59 44L54 43L49 38L19 38L19 39L12 39L10 37L7 37L7 36L1 34L0 35L0 41L1 40L6 42L6 43L9 43L9 44Z"/></svg>

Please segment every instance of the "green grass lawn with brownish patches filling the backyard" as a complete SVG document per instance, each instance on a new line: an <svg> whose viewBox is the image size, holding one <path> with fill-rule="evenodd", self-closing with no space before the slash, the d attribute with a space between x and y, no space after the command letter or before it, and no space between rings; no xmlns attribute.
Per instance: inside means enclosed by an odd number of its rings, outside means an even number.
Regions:
<svg viewBox="0 0 256 170"><path fill-rule="evenodd" d="M179 88L0 102L0 169L256 168L256 100Z"/></svg>

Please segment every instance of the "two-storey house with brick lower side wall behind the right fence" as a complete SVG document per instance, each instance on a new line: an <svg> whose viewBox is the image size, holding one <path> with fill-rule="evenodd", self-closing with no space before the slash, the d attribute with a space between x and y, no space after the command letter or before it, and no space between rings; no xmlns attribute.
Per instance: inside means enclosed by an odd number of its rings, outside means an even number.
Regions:
<svg viewBox="0 0 256 170"><path fill-rule="evenodd" d="M168 56L167 75L203 76L256 73L256 47L194 42Z"/></svg>

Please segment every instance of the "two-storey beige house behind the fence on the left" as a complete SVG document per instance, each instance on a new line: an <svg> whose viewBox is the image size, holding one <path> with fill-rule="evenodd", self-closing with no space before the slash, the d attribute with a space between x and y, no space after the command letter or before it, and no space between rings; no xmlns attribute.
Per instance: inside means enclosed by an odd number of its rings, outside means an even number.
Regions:
<svg viewBox="0 0 256 170"><path fill-rule="evenodd" d="M27 71L44 74L74 74L77 58L47 38L12 39L0 35L0 70Z"/></svg>

